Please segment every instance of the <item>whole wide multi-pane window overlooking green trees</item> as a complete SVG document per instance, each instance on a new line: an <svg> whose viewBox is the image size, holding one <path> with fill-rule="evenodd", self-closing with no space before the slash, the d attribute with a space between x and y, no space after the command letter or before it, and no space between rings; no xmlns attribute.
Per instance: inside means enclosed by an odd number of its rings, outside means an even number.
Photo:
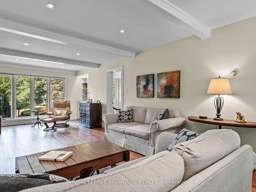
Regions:
<svg viewBox="0 0 256 192"><path fill-rule="evenodd" d="M0 115L3 118L30 118L34 109L46 115L54 100L65 99L65 78L0 74ZM12 110L14 109L14 110Z"/></svg>

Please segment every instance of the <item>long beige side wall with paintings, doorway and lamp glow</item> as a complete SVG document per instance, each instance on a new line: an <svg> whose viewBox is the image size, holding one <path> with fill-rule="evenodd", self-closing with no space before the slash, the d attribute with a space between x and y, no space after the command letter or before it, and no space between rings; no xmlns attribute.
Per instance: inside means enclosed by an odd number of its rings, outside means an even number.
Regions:
<svg viewBox="0 0 256 192"><path fill-rule="evenodd" d="M99 69L80 71L78 75L89 73L91 98L106 103L106 70L124 66L124 106L152 106L177 108L182 116L215 116L214 97L206 91L210 78L230 78L233 95L225 99L222 117L235 119L241 112L247 121L256 121L256 17L212 30L211 38L200 40L190 36L167 45L139 53L135 59L121 58L104 63ZM238 70L238 75L230 72ZM159 99L136 98L136 76L180 70L180 98ZM155 95L157 82L155 80ZM127 90L127 92L126 92ZM214 129L215 126L187 122L186 127L197 132ZM236 130L242 144L250 144L256 151L256 129Z"/></svg>

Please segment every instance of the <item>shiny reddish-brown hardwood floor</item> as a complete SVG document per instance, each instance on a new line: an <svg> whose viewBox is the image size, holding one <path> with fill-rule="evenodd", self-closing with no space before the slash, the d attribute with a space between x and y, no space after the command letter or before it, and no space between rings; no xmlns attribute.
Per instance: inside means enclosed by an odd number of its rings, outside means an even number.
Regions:
<svg viewBox="0 0 256 192"><path fill-rule="evenodd" d="M58 128L57 132L44 132L32 124L4 126L0 135L0 174L15 173L15 157L54 150L71 145L101 140L104 129L86 129L71 121L68 128ZM143 155L131 152L130 160ZM256 192L256 172L252 173L252 192Z"/></svg>

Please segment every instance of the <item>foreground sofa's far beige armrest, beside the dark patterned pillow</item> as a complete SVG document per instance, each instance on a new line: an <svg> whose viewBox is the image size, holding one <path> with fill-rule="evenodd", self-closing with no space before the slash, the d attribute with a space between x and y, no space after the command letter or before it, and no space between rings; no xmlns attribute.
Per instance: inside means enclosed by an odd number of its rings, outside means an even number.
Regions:
<svg viewBox="0 0 256 192"><path fill-rule="evenodd" d="M170 132L161 133L156 142L155 154L162 152L166 149L168 144L176 138L177 134Z"/></svg>

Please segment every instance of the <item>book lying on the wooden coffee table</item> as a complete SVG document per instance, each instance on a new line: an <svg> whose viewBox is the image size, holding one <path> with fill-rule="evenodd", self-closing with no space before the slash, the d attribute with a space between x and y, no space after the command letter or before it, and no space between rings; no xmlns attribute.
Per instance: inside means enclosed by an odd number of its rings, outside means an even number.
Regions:
<svg viewBox="0 0 256 192"><path fill-rule="evenodd" d="M65 161L65 159L70 157L72 154L73 152L50 151L49 153L42 155L38 159L44 161Z"/></svg>

